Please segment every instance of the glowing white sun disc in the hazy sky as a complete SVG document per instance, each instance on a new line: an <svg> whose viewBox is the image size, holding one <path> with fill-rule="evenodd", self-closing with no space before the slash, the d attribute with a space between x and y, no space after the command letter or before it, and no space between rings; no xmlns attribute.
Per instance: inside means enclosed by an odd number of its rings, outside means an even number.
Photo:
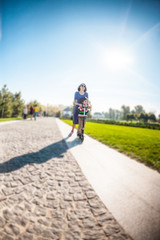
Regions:
<svg viewBox="0 0 160 240"><path fill-rule="evenodd" d="M106 50L104 62L109 69L124 70L132 65L134 58L128 50L111 48Z"/></svg>

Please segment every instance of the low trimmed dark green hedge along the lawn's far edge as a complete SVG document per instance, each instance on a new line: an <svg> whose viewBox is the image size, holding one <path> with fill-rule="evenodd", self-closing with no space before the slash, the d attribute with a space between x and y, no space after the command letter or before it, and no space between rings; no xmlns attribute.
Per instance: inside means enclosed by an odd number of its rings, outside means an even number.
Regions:
<svg viewBox="0 0 160 240"><path fill-rule="evenodd" d="M149 128L149 129L160 130L160 124L158 124L158 123L120 122L120 121L115 121L115 120L91 119L91 118L88 118L87 121L95 122L95 123L103 123L103 124L113 124L113 125L120 125L120 126L140 127L140 128Z"/></svg>

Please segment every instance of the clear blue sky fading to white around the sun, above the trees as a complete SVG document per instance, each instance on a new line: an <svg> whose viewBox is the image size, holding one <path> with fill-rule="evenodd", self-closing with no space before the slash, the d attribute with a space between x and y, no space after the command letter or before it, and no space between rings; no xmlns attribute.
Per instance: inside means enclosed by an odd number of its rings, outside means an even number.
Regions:
<svg viewBox="0 0 160 240"><path fill-rule="evenodd" d="M160 1L5 0L0 88L27 102L71 105L87 85L93 111L160 113Z"/></svg>

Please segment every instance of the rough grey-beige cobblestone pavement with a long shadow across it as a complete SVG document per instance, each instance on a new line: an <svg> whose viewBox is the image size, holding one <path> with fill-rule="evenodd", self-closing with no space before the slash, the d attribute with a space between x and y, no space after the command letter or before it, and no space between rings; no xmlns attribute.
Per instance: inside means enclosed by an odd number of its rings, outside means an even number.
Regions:
<svg viewBox="0 0 160 240"><path fill-rule="evenodd" d="M53 118L0 125L0 240L129 238Z"/></svg>

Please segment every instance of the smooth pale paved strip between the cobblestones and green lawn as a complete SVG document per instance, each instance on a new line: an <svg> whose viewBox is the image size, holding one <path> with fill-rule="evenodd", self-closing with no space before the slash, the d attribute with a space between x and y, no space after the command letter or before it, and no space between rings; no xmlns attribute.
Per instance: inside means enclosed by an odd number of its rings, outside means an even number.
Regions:
<svg viewBox="0 0 160 240"><path fill-rule="evenodd" d="M66 137L71 127L57 120ZM76 133L66 139L83 173L109 211L135 240L160 239L160 174L100 142Z"/></svg>

